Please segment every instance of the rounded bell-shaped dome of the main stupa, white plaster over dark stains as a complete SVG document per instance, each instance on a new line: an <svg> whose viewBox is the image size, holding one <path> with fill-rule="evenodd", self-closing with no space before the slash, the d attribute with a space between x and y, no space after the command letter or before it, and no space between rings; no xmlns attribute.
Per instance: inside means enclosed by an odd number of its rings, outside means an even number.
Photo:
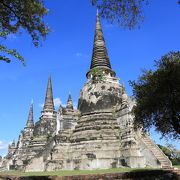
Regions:
<svg viewBox="0 0 180 180"><path fill-rule="evenodd" d="M78 109L82 114L112 111L113 106L121 103L121 94L122 87L116 81L89 80L80 92Z"/></svg>

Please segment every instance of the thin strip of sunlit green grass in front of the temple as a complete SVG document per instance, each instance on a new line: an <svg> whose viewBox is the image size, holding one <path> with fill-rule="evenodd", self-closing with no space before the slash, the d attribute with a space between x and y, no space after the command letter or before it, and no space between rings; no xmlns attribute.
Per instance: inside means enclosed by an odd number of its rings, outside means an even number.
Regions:
<svg viewBox="0 0 180 180"><path fill-rule="evenodd" d="M72 175L84 175L84 174L102 174L102 173L117 173L117 172L130 172L130 171L147 171L152 168L133 169L133 168L113 168L113 169L100 169L100 170L62 170L53 172L20 172L20 171L8 171L0 172L0 175L15 175L15 176L72 176Z"/></svg>

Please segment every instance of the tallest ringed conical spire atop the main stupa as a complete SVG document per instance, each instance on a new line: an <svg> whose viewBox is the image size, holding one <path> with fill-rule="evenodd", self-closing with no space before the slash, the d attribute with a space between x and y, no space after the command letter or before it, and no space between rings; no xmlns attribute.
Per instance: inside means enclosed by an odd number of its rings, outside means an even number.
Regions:
<svg viewBox="0 0 180 180"><path fill-rule="evenodd" d="M103 32L101 28L98 9L96 14L96 30L94 36L94 47L93 47L93 55L92 55L90 69L95 67L105 67L111 69L111 64L109 61L109 57L103 37Z"/></svg>

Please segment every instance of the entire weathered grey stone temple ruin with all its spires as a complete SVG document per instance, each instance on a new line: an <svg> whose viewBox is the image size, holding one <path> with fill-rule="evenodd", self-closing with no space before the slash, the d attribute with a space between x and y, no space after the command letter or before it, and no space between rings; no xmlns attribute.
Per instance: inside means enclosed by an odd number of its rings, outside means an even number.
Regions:
<svg viewBox="0 0 180 180"><path fill-rule="evenodd" d="M134 130L128 97L111 68L97 13L94 47L78 108L71 95L56 111L51 78L39 120L30 106L18 142L9 145L1 170L56 171L118 167L171 167L171 161L142 130Z"/></svg>

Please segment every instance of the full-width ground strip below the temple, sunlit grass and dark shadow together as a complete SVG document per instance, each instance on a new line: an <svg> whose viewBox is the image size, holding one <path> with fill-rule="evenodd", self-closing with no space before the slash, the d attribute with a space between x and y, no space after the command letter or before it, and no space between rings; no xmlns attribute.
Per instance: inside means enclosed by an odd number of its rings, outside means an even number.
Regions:
<svg viewBox="0 0 180 180"><path fill-rule="evenodd" d="M177 172L163 169L109 169L94 171L58 171L39 173L11 172L1 175L0 179L8 180L103 180L103 179L132 179L132 180L179 180Z"/></svg>

